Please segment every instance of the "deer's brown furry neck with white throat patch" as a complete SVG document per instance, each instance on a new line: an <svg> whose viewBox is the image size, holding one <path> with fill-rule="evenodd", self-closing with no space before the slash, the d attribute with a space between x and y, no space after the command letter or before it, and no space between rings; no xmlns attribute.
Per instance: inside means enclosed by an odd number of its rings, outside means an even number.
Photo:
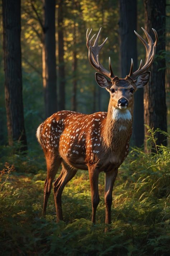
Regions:
<svg viewBox="0 0 170 256"><path fill-rule="evenodd" d="M114 150L120 150L129 141L132 134L133 108L114 108L110 100L107 118L103 130L105 145Z"/></svg>

